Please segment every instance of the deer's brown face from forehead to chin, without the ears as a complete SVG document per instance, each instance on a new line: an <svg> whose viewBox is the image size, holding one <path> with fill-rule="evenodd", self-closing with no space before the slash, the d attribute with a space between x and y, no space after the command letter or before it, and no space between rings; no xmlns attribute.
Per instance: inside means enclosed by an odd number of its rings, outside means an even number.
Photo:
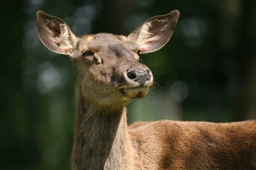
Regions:
<svg viewBox="0 0 256 170"><path fill-rule="evenodd" d="M140 46L136 42L104 33L81 37L81 41L78 67L83 70L79 73L84 74L82 84L90 81L103 87L108 96L115 94L113 97L124 99L142 98L147 94L153 76L138 61Z"/></svg>

